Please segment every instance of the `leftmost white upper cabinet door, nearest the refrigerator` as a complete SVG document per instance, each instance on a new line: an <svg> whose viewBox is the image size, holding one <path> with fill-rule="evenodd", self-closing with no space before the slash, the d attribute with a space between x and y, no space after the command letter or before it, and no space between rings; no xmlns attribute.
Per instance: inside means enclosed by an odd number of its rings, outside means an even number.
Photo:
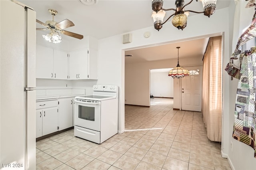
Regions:
<svg viewBox="0 0 256 170"><path fill-rule="evenodd" d="M53 49L36 45L36 78L53 79Z"/></svg>

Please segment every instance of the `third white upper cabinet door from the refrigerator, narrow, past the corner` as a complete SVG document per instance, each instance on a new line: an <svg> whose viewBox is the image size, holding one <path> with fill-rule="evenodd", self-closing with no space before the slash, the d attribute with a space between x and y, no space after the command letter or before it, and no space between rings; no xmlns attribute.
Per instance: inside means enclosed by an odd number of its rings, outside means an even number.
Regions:
<svg viewBox="0 0 256 170"><path fill-rule="evenodd" d="M79 57L78 51L71 51L69 57L69 79L76 80L78 79L78 67L79 67Z"/></svg>

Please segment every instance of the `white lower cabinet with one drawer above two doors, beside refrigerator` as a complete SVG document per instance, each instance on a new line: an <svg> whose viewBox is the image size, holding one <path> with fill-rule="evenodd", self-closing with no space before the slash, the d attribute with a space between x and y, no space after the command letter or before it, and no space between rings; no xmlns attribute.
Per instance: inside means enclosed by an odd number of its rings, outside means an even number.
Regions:
<svg viewBox="0 0 256 170"><path fill-rule="evenodd" d="M58 100L36 101L36 138L58 131Z"/></svg>

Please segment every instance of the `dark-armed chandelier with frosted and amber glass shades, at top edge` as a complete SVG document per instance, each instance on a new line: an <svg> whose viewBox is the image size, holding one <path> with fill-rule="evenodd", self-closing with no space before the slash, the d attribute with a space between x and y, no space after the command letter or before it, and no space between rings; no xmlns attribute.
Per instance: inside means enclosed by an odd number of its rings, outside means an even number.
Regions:
<svg viewBox="0 0 256 170"><path fill-rule="evenodd" d="M216 1L217 0L201 0L203 4L203 10L202 12L196 12L192 10L185 10L184 7L189 5L193 0L190 0L187 4L184 5L184 0L176 0L175 6L176 9L170 8L170 9L164 9L162 8L164 0L152 0L152 18L154 20L154 28L156 30L160 30L162 28L162 25L166 23L172 16L172 25L178 28L179 30L183 30L187 26L187 18L188 18L188 12L194 12L194 13L204 13L205 16L210 17L214 12L216 8ZM196 0L197 1L197 0ZM165 11L173 10L175 11L174 14L169 16L165 22L164 16L166 14Z"/></svg>

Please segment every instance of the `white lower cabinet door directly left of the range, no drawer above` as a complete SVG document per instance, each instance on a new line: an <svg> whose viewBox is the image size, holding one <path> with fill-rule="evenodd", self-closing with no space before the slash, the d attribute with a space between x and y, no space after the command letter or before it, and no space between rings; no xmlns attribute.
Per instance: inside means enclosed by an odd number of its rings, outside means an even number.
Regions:
<svg viewBox="0 0 256 170"><path fill-rule="evenodd" d="M59 130L73 125L73 101L72 98L59 99Z"/></svg>

